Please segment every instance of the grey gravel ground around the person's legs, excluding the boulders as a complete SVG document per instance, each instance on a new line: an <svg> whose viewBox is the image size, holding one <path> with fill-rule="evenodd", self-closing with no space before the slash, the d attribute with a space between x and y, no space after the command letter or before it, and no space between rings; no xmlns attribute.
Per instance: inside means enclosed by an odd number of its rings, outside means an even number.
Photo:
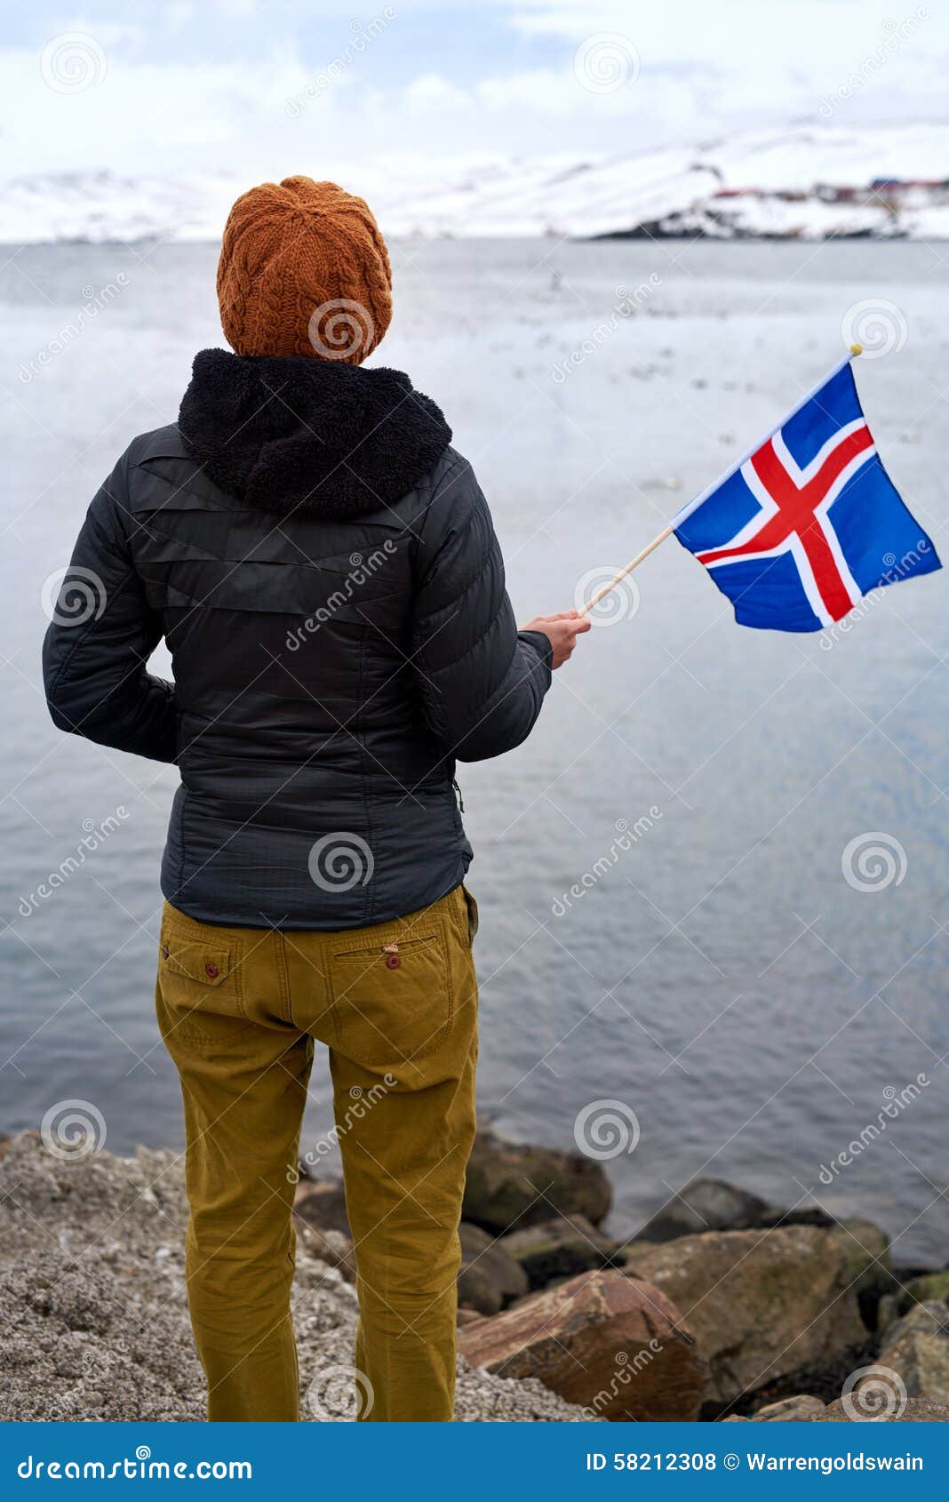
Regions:
<svg viewBox="0 0 949 1502"><path fill-rule="evenodd" d="M185 1302L182 1161L147 1149L57 1158L33 1133L3 1148L0 1419L204 1418ZM302 1416L351 1419L356 1295L305 1245L294 1317ZM583 1410L539 1382L459 1362L456 1418L557 1422Z"/></svg>

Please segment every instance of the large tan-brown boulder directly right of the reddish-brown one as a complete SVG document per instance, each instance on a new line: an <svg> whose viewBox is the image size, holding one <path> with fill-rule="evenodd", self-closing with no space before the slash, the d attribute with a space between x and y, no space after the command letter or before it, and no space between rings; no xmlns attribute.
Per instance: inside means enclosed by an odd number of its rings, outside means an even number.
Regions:
<svg viewBox="0 0 949 1502"><path fill-rule="evenodd" d="M713 1403L833 1361L866 1334L847 1253L817 1226L638 1242L626 1268L683 1311L710 1367Z"/></svg>

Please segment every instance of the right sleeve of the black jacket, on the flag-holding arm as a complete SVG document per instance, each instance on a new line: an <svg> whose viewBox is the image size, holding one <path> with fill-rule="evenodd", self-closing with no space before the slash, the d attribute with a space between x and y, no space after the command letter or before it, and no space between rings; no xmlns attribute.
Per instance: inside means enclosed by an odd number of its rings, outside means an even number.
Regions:
<svg viewBox="0 0 949 1502"><path fill-rule="evenodd" d="M491 512L459 455L435 481L416 568L413 664L429 728L459 762L511 751L541 713L553 649L517 629Z"/></svg>

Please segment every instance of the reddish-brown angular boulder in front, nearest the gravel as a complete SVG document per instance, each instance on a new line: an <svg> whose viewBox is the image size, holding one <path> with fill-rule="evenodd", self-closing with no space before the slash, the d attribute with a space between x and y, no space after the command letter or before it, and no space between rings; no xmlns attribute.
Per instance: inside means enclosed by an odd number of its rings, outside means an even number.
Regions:
<svg viewBox="0 0 949 1502"><path fill-rule="evenodd" d="M679 1311L622 1272L584 1272L459 1331L473 1367L539 1377L589 1418L695 1419L706 1368Z"/></svg>

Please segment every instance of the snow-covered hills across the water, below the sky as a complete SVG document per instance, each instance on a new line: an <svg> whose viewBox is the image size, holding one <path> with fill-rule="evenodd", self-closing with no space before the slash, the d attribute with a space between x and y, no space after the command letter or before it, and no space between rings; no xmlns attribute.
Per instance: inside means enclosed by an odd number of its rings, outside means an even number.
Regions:
<svg viewBox="0 0 949 1502"><path fill-rule="evenodd" d="M299 171L309 165L290 164ZM601 159L389 159L341 174L389 234L949 239L949 125L799 125ZM0 240L216 239L248 186L110 171L18 177Z"/></svg>

